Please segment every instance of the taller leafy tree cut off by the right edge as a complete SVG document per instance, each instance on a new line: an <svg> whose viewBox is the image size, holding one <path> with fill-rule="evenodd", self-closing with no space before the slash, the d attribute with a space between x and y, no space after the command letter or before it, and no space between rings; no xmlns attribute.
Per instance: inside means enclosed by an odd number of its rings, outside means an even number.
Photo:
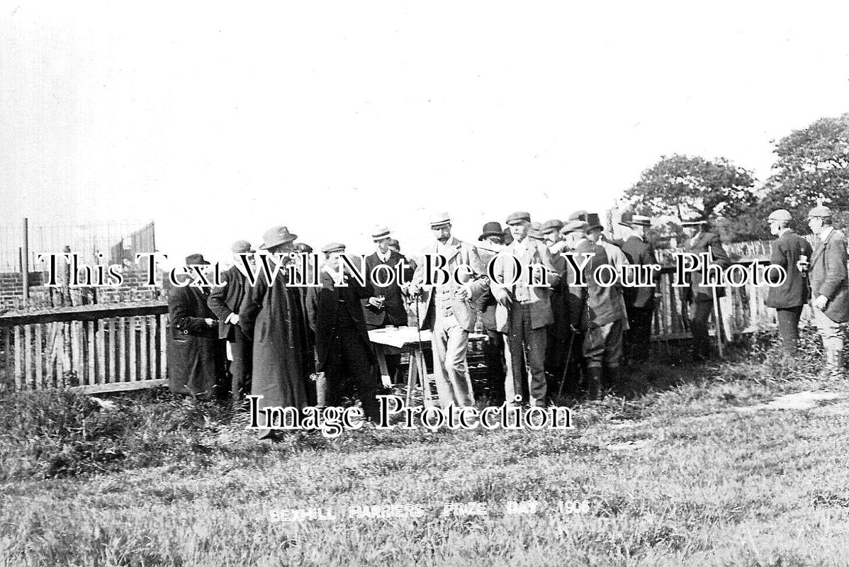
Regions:
<svg viewBox="0 0 849 567"><path fill-rule="evenodd" d="M807 216L818 199L849 208L849 113L790 132L773 152L779 157L767 179L766 208L787 209L795 219Z"/></svg>

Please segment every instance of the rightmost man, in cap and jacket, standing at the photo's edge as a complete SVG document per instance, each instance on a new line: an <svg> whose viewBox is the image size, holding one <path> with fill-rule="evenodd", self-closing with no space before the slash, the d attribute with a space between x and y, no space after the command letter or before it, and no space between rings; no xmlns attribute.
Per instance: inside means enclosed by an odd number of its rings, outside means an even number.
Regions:
<svg viewBox="0 0 849 567"><path fill-rule="evenodd" d="M813 320L825 347L821 374L841 378L843 374L843 329L849 321L849 282L846 278L846 237L831 226L831 210L816 206L807 214L807 226L817 236L808 267ZM802 263L802 267L807 267Z"/></svg>

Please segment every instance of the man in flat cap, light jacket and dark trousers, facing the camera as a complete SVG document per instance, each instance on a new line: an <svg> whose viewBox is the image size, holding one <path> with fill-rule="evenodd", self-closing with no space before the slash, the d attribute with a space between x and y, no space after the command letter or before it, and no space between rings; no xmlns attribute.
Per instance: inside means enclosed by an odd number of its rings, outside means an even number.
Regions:
<svg viewBox="0 0 849 567"><path fill-rule="evenodd" d="M527 365L528 403L531 406L544 406L547 390L546 326L554 323L551 287L559 283L560 275L545 242L529 237L529 213L514 212L507 217L507 225L513 235L513 242L495 257L492 267L495 279L490 283L492 295L498 301L496 324L507 343L504 351L507 358L504 396L509 404L522 401L521 369ZM519 262L518 266L514 259ZM547 272L548 285L528 285L527 274L531 269L537 272L534 283L543 283L538 267L543 267Z"/></svg>

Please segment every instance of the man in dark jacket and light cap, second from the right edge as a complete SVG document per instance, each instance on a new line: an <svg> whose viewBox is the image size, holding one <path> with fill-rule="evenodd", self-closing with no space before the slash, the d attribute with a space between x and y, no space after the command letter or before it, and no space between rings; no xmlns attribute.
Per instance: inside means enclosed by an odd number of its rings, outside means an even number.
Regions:
<svg viewBox="0 0 849 567"><path fill-rule="evenodd" d="M784 267L787 278L777 288L769 288L767 300L763 303L767 307L773 307L779 320L779 335L784 354L793 356L796 354L796 345L799 342L799 317L801 309L805 306L810 295L807 278L803 275L796 264L801 256L811 258L811 244L801 238L790 228L790 211L779 209L769 214L769 230L779 237L773 243L773 253L770 255L770 263Z"/></svg>

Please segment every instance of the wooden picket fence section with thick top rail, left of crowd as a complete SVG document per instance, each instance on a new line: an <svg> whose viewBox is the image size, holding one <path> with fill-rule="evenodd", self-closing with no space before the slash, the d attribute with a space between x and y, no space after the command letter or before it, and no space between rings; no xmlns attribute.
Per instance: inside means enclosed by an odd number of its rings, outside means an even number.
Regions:
<svg viewBox="0 0 849 567"><path fill-rule="evenodd" d="M166 382L164 303L0 315L0 390L134 390Z"/></svg>

